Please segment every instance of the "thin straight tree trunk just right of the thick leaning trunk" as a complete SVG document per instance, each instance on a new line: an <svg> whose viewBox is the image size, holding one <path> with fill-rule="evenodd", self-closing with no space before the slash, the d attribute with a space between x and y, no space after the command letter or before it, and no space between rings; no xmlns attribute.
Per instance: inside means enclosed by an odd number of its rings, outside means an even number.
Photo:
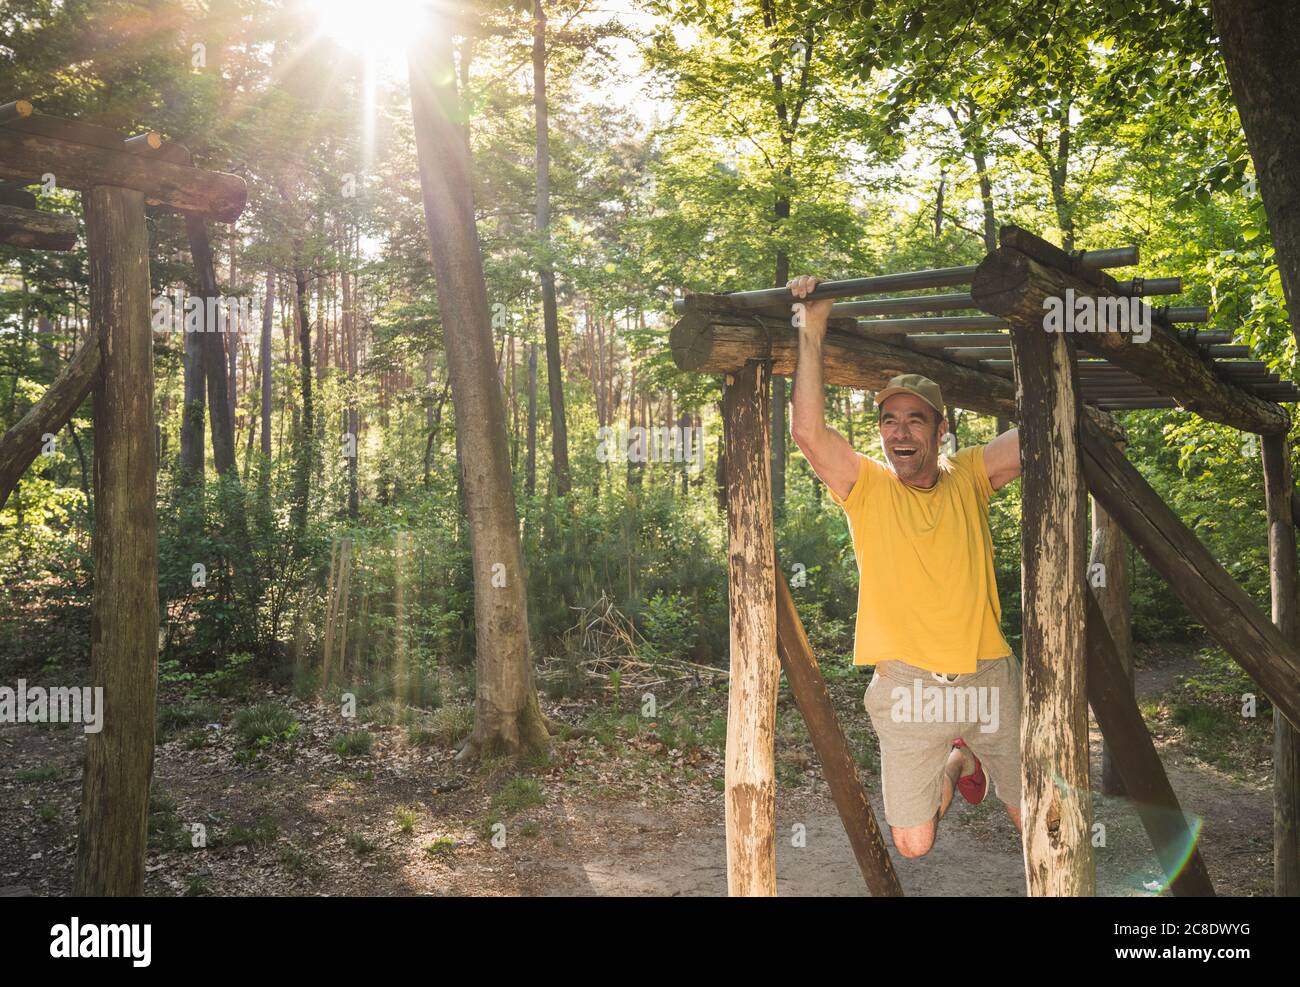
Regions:
<svg viewBox="0 0 1300 987"><path fill-rule="evenodd" d="M551 147L546 118L546 12L533 0L533 113L537 121L537 233L543 251L542 322L546 334L546 386L551 398L551 469L555 493L569 492L568 424L564 419L564 377L560 369L560 328L555 311L555 272L551 244Z"/></svg>

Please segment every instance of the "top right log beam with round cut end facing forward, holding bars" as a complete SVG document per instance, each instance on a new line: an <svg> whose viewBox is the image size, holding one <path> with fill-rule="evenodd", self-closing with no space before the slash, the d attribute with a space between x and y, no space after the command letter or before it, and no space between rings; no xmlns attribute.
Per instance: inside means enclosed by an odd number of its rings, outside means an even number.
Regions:
<svg viewBox="0 0 1300 987"><path fill-rule="evenodd" d="M1067 290L1072 290L1075 298L1121 294L1105 273L1088 272L1088 278L1084 278L1041 264L1009 246L985 256L971 283L971 296L985 312L1040 328L1046 311L1044 303L1065 298ZM1126 332L1072 336L1080 347L1130 371L1210 421L1258 433L1286 432L1290 428L1290 416L1284 410L1225 380L1212 364L1180 343L1154 312L1150 315L1150 338L1145 343L1135 342L1134 334Z"/></svg>

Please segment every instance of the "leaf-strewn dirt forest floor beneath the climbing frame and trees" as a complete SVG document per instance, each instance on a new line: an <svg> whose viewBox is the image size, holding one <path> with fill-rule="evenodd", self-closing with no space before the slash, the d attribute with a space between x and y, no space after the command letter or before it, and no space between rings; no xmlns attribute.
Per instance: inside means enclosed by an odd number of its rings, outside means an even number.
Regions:
<svg viewBox="0 0 1300 987"><path fill-rule="evenodd" d="M1173 687L1187 659L1148 661L1139 697ZM864 678L832 683L858 750L874 746L861 707ZM274 698L302 722L292 743L240 756L234 711ZM716 696L714 697L716 700ZM577 722L581 704L545 704ZM716 715L716 709L714 710ZM781 724L785 724L781 728ZM370 724L373 749L339 754L337 710L285 693L224 706L199 749L160 745L151 817L150 895L723 895L727 889L723 762L718 745L670 746L650 726L556 739L551 762L464 769L446 746L415 744L404 727ZM777 888L785 895L866 895L802 723L779 713ZM1184 811L1204 823L1201 852L1219 895L1268 895L1271 765L1221 771L1183 749L1176 730L1157 745ZM79 730L0 727L0 887L68 895L79 801ZM191 741L191 745L198 741ZM1262 748L1261 748L1262 749ZM1101 737L1092 727L1092 772ZM874 752L867 750L868 763ZM878 774L863 778L883 819ZM1106 845L1097 891L1158 893L1162 876L1132 806L1096 796ZM195 848L194 826L205 847ZM493 824L497 828L493 828ZM803 827L803 845L792 834ZM1020 843L991 796L959 798L930 854L890 849L907 895L1024 893Z"/></svg>

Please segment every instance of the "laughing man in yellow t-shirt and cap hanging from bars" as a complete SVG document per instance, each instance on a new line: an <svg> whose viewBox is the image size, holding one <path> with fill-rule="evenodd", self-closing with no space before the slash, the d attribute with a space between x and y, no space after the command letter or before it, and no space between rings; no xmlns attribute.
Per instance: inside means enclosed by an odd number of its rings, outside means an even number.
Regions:
<svg viewBox="0 0 1300 987"><path fill-rule="evenodd" d="M789 282L806 299L815 277ZM874 665L863 697L880 739L885 821L920 857L959 791L989 780L1020 828L1020 670L1000 627L988 499L1020 475L1015 429L941 455L939 385L901 375L876 394L888 466L826 424L822 342L831 302L803 306L792 433L844 508L858 560L854 665ZM988 774L985 775L985 770Z"/></svg>

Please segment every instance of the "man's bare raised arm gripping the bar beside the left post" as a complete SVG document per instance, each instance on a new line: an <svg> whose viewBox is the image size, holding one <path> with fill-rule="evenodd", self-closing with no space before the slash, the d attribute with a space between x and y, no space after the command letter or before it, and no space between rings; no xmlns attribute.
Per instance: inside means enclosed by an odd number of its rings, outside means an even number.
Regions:
<svg viewBox="0 0 1300 987"><path fill-rule="evenodd" d="M796 300L814 287L818 278L803 276L789 283ZM826 424L826 386L822 382L822 341L831 317L831 302L805 302L803 325L800 328L800 356L794 367L794 410L790 434L794 445L807 458L812 471L822 477L841 501L848 498L858 480L858 454L853 446Z"/></svg>

